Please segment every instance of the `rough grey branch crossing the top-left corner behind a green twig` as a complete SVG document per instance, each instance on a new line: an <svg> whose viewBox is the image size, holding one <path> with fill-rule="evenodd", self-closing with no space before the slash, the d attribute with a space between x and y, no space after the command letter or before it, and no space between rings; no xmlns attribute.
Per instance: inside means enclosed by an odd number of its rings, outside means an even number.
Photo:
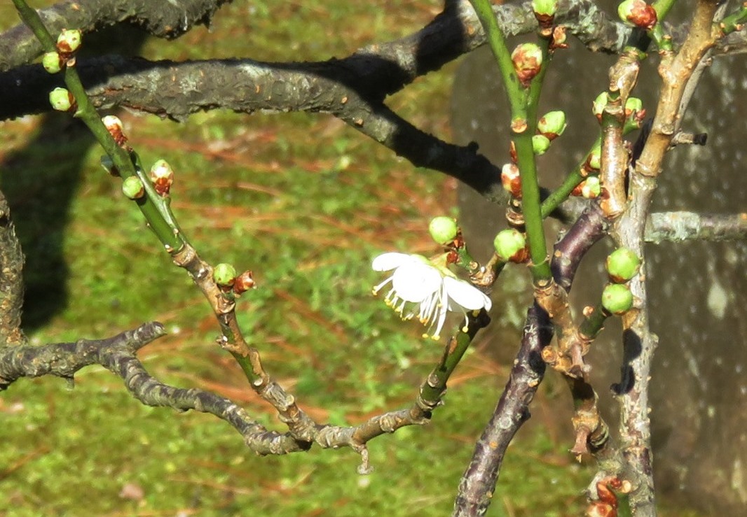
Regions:
<svg viewBox="0 0 747 517"><path fill-rule="evenodd" d="M231 0L66 0L39 11L52 34L63 28L99 31L121 22L140 25L153 36L173 39L193 25L210 22L215 11ZM42 52L37 37L24 24L0 34L0 72L31 63Z"/></svg>

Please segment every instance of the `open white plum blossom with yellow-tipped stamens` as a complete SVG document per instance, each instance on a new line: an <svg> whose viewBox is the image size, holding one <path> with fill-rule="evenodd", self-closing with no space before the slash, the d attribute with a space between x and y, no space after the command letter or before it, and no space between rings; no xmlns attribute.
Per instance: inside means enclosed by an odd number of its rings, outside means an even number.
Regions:
<svg viewBox="0 0 747 517"><path fill-rule="evenodd" d="M402 319L411 319L417 314L418 320L428 328L424 337L435 328L430 337L440 339L448 311L462 312L465 316L462 330L466 332L467 311L490 310L492 305L490 298L480 289L456 278L446 266L447 255L428 260L418 254L385 253L373 259L371 264L374 271L394 270L389 278L373 288L373 294L378 294L391 283L384 301ZM411 306L405 313L407 304Z"/></svg>

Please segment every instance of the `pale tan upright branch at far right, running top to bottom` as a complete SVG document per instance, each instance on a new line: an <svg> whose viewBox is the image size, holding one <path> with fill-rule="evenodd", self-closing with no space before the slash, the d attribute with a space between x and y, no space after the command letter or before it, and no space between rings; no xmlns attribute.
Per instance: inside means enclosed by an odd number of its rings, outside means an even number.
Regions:
<svg viewBox="0 0 747 517"><path fill-rule="evenodd" d="M645 256L644 227L651 197L657 187L657 176L683 116L681 99L688 88L692 89L692 84L688 85L689 79L701 58L716 42L718 34L712 23L716 3L699 0L689 34L679 53L676 56L662 55L659 70L663 84L651 134L630 174L630 203L611 232L617 245L630 248L639 257ZM623 316L624 376L617 391L621 416L619 432L624 444L622 455L625 463L621 478L632 483L630 506L633 514L655 516L648 383L658 337L648 326L645 267L644 260L639 275L630 281L636 304L633 310Z"/></svg>

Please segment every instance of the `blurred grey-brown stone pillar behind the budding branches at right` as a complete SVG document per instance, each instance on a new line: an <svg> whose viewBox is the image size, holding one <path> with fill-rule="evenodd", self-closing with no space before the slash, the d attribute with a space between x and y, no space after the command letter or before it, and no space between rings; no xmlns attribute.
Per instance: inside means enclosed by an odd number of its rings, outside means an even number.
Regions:
<svg viewBox="0 0 747 517"><path fill-rule="evenodd" d="M592 100L607 87L607 69L614 60L586 51L572 38L570 50L557 51L540 113L565 110L568 128L539 157L543 186L557 186L593 142L598 123L591 113ZM656 61L651 57L645 63L634 92L643 98L650 115L660 84ZM684 128L707 132L707 146L681 146L669 153L654 211L747 211L746 85L743 57L718 58L705 72ZM509 111L487 48L474 52L459 67L452 121L456 142L477 142L480 151L498 165L509 160ZM462 186L459 208L470 250L486 260L493 236L506 226L505 208L488 204ZM559 226L553 222L548 228L554 236ZM577 279L584 280L577 281L572 292L575 307L598 299L606 277L602 264L610 249L610 242L601 242L583 261ZM660 336L651 381L657 489L698 510L743 515L747 507L747 242L662 242L648 245L646 253L651 328ZM500 336L494 339L500 348L495 357L504 361L515 353L529 301L528 272L514 267L507 273L495 287L494 324L487 330ZM589 355L592 382L613 421L617 406L608 387L619 380L619 330L619 322L610 322ZM562 423L570 427L567 421Z"/></svg>

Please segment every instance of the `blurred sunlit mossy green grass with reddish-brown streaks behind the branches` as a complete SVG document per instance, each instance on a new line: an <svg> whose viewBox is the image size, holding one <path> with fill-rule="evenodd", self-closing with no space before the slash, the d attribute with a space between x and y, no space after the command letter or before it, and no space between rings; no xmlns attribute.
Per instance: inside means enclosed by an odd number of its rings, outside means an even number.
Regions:
<svg viewBox="0 0 747 517"><path fill-rule="evenodd" d="M440 4L234 2L212 31L146 40L142 53L341 57L409 33ZM13 23L7 4L0 20ZM389 104L447 137L453 71L421 78ZM122 118L144 163L164 158L176 169L173 207L202 256L254 270L259 289L241 299L242 328L311 416L356 424L412 401L441 350L369 295L379 280L369 265L381 251L436 251L425 229L431 217L454 213L453 181L326 116L211 112L183 125ZM0 124L0 141L1 187L28 256L31 342L110 336L157 319L170 333L141 353L154 375L218 392L282 429L214 345L207 305L100 169L87 133L52 114ZM447 515L506 380L507 366L487 345L465 358L432 424L371 443L368 477L356 474L349 450L255 457L227 424L143 407L100 368L81 372L72 390L53 378L21 380L0 396L0 515ZM558 403L551 390L539 396L489 515L580 513L593 471L567 454L567 436L552 423Z"/></svg>

